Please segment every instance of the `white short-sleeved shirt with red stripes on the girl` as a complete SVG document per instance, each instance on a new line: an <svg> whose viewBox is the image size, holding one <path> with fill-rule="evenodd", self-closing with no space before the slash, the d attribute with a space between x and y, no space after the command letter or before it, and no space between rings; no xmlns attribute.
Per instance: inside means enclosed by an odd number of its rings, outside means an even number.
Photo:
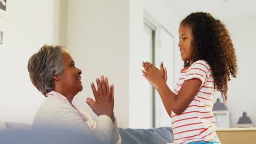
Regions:
<svg viewBox="0 0 256 144"><path fill-rule="evenodd" d="M214 80L210 65L200 60L182 69L174 93L178 94L183 82L191 79L201 80L202 85L183 113L176 115L172 111L174 143L211 141L216 136L216 120L212 113Z"/></svg>

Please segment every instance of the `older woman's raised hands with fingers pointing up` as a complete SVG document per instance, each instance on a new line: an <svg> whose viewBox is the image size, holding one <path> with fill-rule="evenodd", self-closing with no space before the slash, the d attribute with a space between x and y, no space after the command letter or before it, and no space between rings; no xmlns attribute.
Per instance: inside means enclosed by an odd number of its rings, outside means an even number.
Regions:
<svg viewBox="0 0 256 144"><path fill-rule="evenodd" d="M104 78L104 76L101 76L101 80L97 78L96 82L98 91L96 90L94 83L91 83L91 89L94 93L95 101L91 98L87 98L86 103L97 116L107 115L114 123L114 85L112 84L109 87L108 78Z"/></svg>

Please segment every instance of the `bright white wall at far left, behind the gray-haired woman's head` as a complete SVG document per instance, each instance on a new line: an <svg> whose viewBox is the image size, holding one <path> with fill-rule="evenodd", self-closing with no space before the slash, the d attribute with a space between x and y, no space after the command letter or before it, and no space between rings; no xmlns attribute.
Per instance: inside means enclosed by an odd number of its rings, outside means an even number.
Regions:
<svg viewBox="0 0 256 144"><path fill-rule="evenodd" d="M32 85L28 59L43 44L59 39L59 1L7 1L8 27L0 53L0 120L31 124L44 96Z"/></svg>

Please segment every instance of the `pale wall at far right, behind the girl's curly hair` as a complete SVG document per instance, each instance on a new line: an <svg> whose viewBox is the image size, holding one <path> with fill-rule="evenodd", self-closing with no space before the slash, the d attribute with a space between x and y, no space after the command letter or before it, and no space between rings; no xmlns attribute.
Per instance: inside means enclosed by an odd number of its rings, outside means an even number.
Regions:
<svg viewBox="0 0 256 144"><path fill-rule="evenodd" d="M255 106L255 33L256 16L225 19L232 43L236 49L238 73L236 79L231 79L228 89L226 106L231 111L232 127L236 126L238 118L244 111L251 117L256 127Z"/></svg>

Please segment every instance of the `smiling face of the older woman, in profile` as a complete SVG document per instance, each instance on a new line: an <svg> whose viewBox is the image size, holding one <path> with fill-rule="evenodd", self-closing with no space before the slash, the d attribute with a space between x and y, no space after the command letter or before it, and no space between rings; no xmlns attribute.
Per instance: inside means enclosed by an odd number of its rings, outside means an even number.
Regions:
<svg viewBox="0 0 256 144"><path fill-rule="evenodd" d="M63 74L59 80L64 93L77 94L83 90L81 82L82 70L75 67L69 52L63 53Z"/></svg>

